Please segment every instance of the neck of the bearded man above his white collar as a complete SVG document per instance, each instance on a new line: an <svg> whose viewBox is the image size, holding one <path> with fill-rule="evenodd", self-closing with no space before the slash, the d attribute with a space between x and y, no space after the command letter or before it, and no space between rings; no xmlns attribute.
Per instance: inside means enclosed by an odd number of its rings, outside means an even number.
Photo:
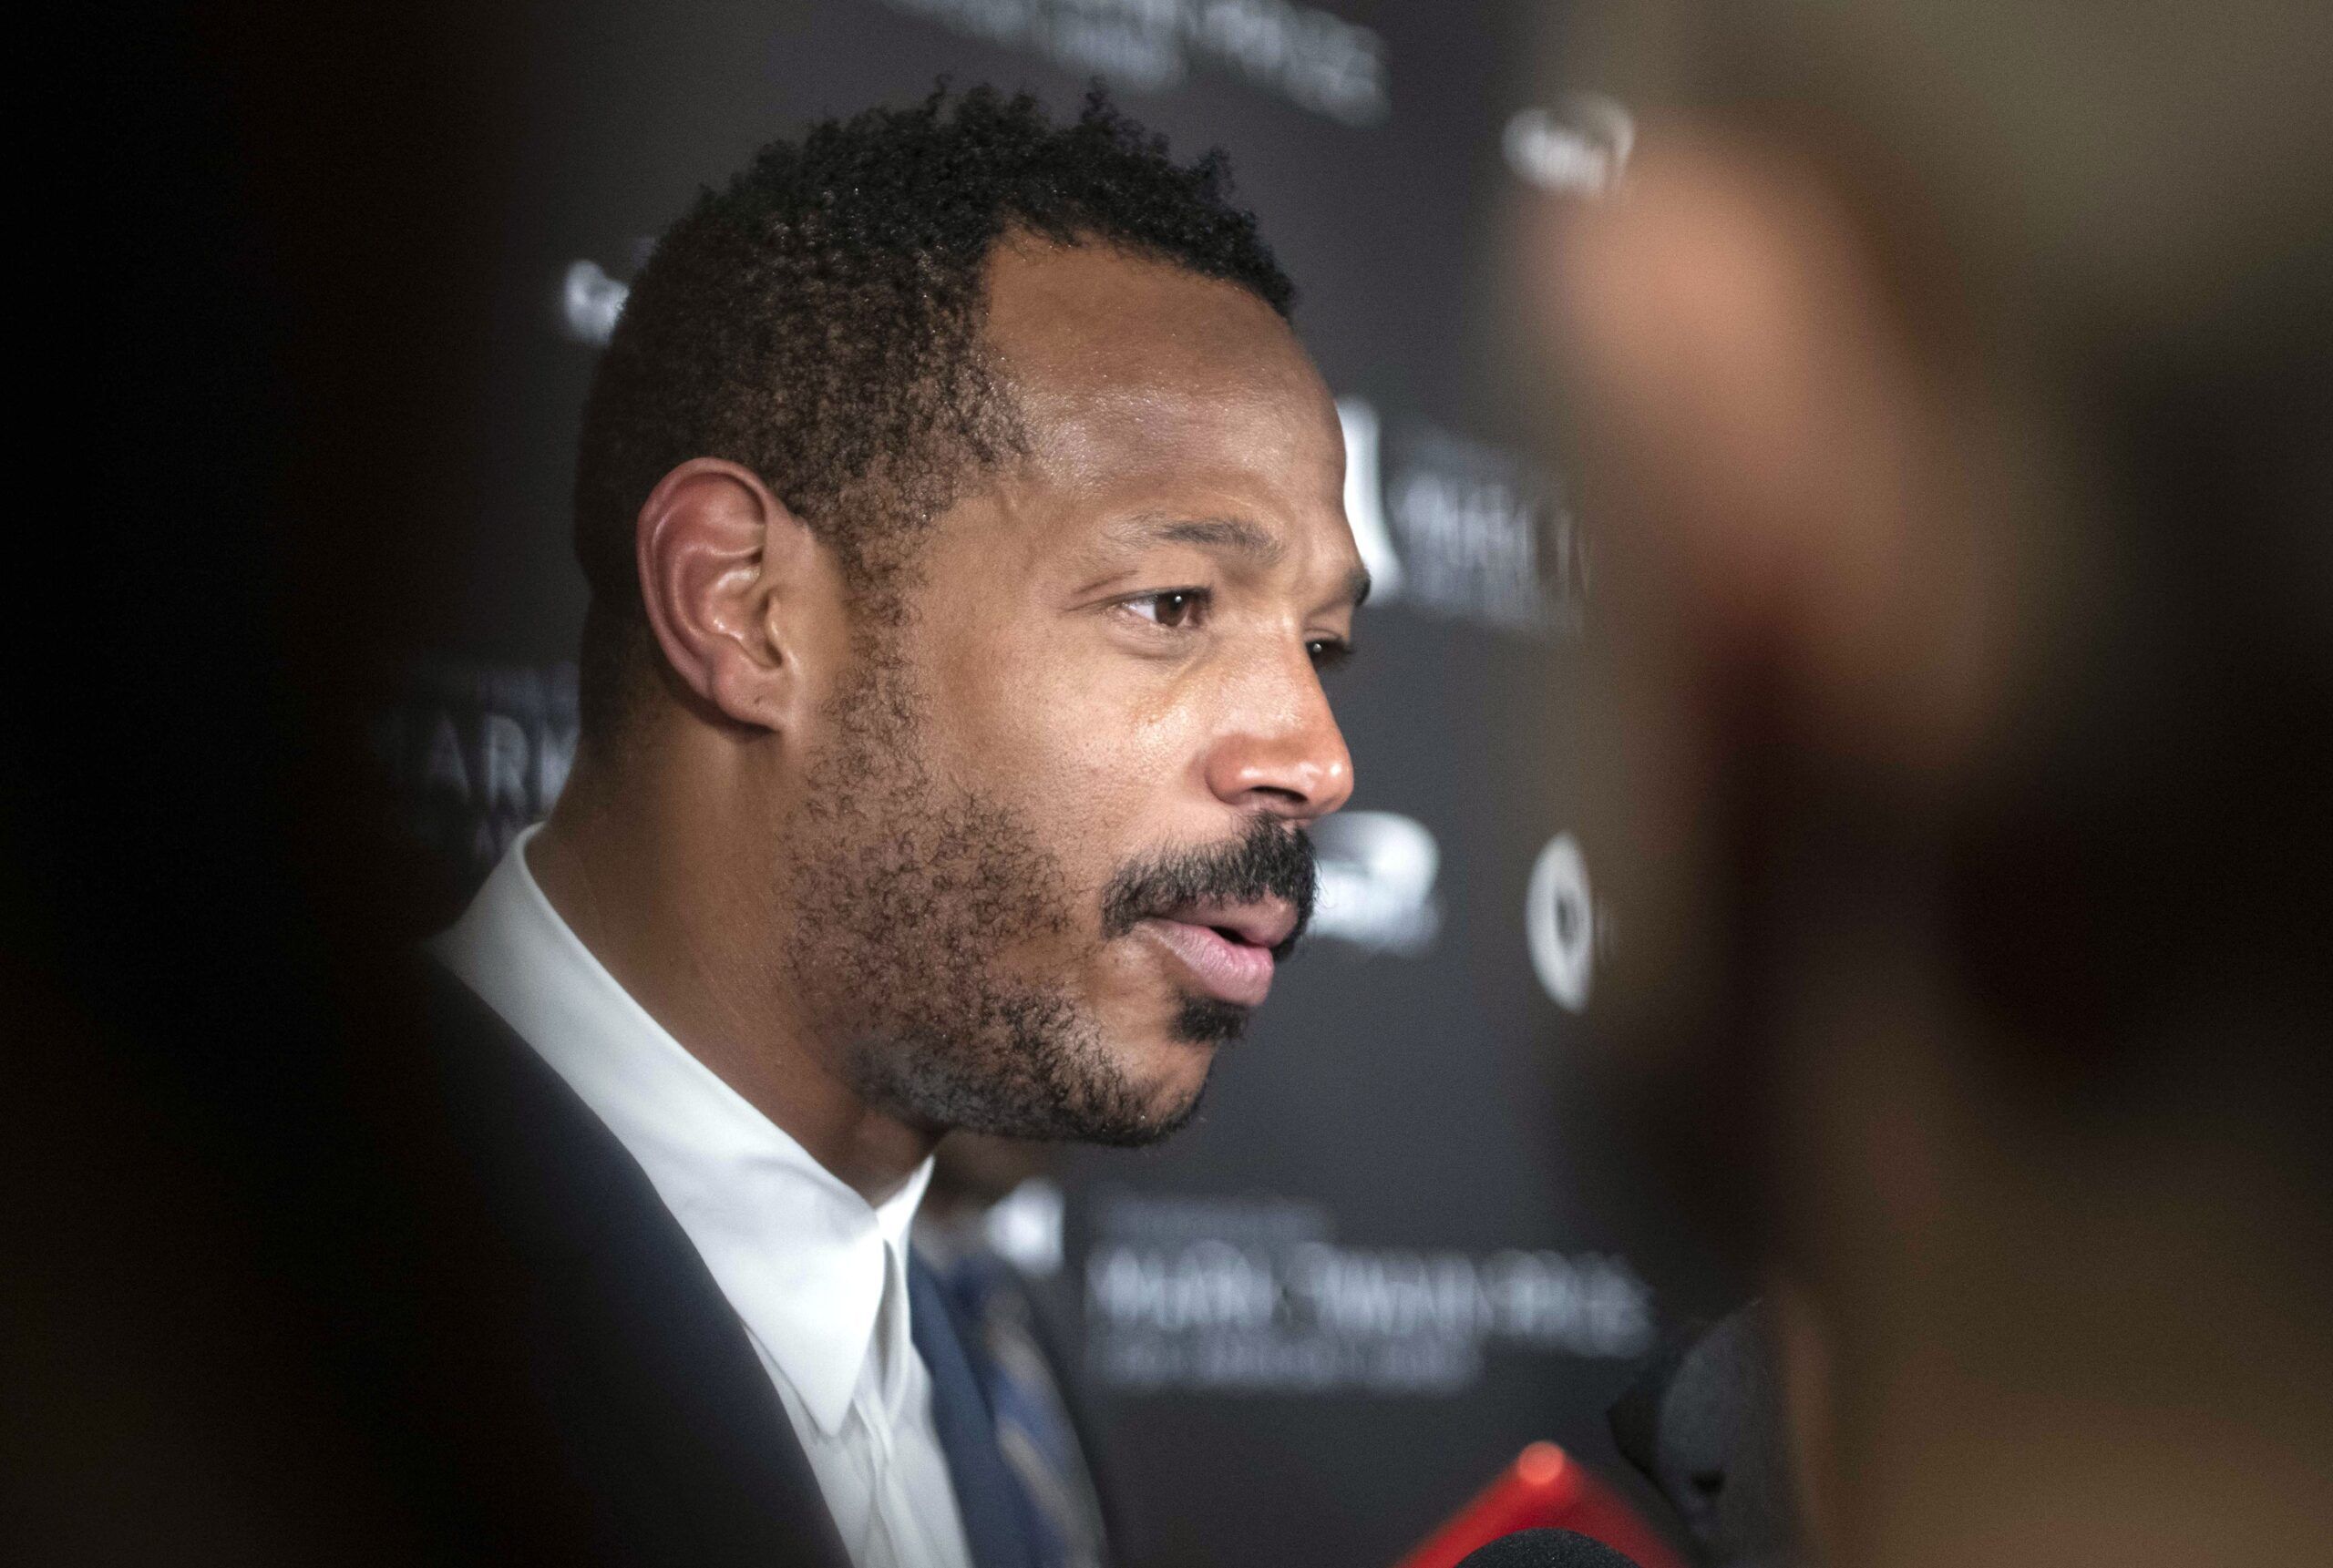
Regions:
<svg viewBox="0 0 2333 1568"><path fill-rule="evenodd" d="M744 772L740 747L721 737L658 749L621 777L579 754L527 845L527 870L649 1017L880 1204L931 1155L938 1132L870 1106L852 1087L842 1045L800 1015L772 952L772 880L740 866L737 845L758 842L733 831L749 803Z"/></svg>

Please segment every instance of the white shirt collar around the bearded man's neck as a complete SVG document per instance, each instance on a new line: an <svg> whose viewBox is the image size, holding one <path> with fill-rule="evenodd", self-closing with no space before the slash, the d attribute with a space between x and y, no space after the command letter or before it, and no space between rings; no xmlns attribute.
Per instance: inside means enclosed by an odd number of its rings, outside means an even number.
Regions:
<svg viewBox="0 0 2333 1568"><path fill-rule="evenodd" d="M908 1227L931 1160L882 1204L812 1160L688 1055L551 908L527 868L534 833L511 842L429 950L607 1122L810 1419L840 1430L877 1328L880 1365L912 1353ZM884 1316L894 1269L901 1295Z"/></svg>

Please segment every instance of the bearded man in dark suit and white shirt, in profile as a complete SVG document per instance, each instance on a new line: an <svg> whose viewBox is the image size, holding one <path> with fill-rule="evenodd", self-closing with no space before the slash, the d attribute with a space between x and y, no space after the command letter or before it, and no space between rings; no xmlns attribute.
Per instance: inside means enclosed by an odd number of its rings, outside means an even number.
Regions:
<svg viewBox="0 0 2333 1568"><path fill-rule="evenodd" d="M576 768L434 943L562 1549L1099 1559L908 1225L952 1127L1183 1125L1304 924L1367 576L1288 303L1215 159L987 91L765 147L644 266Z"/></svg>

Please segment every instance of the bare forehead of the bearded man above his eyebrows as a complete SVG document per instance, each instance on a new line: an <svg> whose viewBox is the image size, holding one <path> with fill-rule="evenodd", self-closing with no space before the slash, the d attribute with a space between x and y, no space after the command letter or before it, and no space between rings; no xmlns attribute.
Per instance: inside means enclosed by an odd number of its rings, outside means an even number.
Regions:
<svg viewBox="0 0 2333 1568"><path fill-rule="evenodd" d="M1288 322L1239 285L1106 245L1010 240L989 264L987 338L1055 483L1341 509L1334 401Z"/></svg>

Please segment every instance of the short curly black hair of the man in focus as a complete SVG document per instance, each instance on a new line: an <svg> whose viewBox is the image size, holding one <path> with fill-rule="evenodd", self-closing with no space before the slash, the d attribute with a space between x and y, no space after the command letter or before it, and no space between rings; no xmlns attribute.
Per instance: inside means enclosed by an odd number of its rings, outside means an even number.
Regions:
<svg viewBox="0 0 2333 1568"><path fill-rule="evenodd" d="M1071 124L943 82L770 142L658 240L593 378L574 495L586 730L646 649L639 506L691 457L758 474L854 595L889 602L919 527L1020 443L980 341L1008 233L1171 261L1283 317L1295 299L1222 152L1176 163L1099 86Z"/></svg>

